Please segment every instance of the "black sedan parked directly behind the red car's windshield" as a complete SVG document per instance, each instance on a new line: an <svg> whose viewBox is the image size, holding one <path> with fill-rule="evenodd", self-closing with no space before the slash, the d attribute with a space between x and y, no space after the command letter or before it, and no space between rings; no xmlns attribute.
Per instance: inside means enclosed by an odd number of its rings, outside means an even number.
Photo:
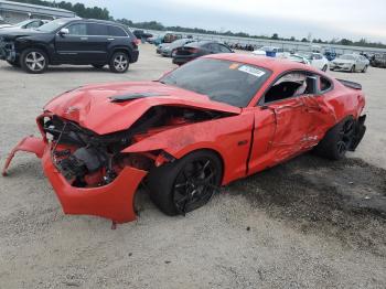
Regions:
<svg viewBox="0 0 386 289"><path fill-rule="evenodd" d="M223 43L213 41L197 41L176 49L172 54L172 57L174 64L182 65L203 55L232 52L233 51Z"/></svg>

